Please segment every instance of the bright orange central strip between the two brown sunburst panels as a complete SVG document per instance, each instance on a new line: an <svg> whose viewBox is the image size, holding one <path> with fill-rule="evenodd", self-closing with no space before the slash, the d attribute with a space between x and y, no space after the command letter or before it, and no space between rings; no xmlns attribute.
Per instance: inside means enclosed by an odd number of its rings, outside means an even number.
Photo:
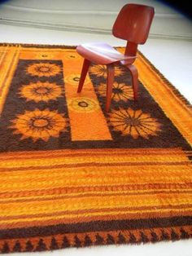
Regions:
<svg viewBox="0 0 192 256"><path fill-rule="evenodd" d="M65 95L68 103L72 141L111 140L111 133L108 129L106 118L103 115L97 96L94 92L94 86L89 78L87 77L87 82L81 94L77 94L78 81L71 82L70 77L68 77L71 76L71 73L74 73L74 76L76 77L80 76L82 59L80 62L77 62L77 64L78 65L71 66L71 63L63 62L65 67ZM82 108L79 104L85 104L86 107ZM82 109L84 109L83 112ZM78 120L78 125L76 124L76 120Z"/></svg>

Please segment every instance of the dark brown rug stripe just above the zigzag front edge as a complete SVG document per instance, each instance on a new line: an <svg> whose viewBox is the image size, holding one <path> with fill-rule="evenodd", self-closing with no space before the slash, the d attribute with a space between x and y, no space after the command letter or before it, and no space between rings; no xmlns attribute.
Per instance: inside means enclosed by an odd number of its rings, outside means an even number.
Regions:
<svg viewBox="0 0 192 256"><path fill-rule="evenodd" d="M178 227L192 224L192 216L172 218L124 219L94 221L89 223L59 224L47 227L27 227L1 230L1 239L24 238L32 236L55 236L64 233L104 232L116 230L134 230L156 227Z"/></svg>

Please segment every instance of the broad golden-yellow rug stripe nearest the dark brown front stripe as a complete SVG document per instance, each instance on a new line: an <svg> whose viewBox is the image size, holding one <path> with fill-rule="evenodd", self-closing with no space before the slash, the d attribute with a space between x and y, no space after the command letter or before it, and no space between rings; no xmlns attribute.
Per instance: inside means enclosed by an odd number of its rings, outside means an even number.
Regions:
<svg viewBox="0 0 192 256"><path fill-rule="evenodd" d="M185 208L190 207L192 204L192 196L190 194L180 193L179 196L172 194L161 194L158 195L127 195L123 196L89 196L81 198L66 198L59 200L52 200L47 204L46 201L38 202L25 202L20 203L18 208L17 203L9 203L7 205L1 205L1 214L3 216L14 216L14 215L30 215L30 214L55 214L58 211L73 211L81 210L114 210L121 209L124 206L129 206L129 210L139 209L139 207L149 207L149 210L164 207L179 207L179 205L185 205ZM141 209L140 209L141 210ZM89 212L89 211L88 211ZM46 215L45 215L46 216Z"/></svg>

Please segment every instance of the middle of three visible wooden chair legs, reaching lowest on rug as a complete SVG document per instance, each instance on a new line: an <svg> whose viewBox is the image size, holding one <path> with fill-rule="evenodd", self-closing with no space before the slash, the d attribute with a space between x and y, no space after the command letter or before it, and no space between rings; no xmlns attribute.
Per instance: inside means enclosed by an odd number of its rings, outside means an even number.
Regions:
<svg viewBox="0 0 192 256"><path fill-rule="evenodd" d="M107 65L107 100L106 111L108 112L111 104L112 86L114 81L115 68L113 64Z"/></svg>

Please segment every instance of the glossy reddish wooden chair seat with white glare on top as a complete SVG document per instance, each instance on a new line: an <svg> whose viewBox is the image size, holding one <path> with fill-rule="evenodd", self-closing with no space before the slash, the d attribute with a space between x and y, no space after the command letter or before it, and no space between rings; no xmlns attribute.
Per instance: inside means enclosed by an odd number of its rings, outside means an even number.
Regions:
<svg viewBox="0 0 192 256"><path fill-rule="evenodd" d="M126 60L126 63L133 63L136 56L126 56L116 51L112 46L103 42L86 43L77 46L76 51L85 59L95 64L111 64L120 60Z"/></svg>

